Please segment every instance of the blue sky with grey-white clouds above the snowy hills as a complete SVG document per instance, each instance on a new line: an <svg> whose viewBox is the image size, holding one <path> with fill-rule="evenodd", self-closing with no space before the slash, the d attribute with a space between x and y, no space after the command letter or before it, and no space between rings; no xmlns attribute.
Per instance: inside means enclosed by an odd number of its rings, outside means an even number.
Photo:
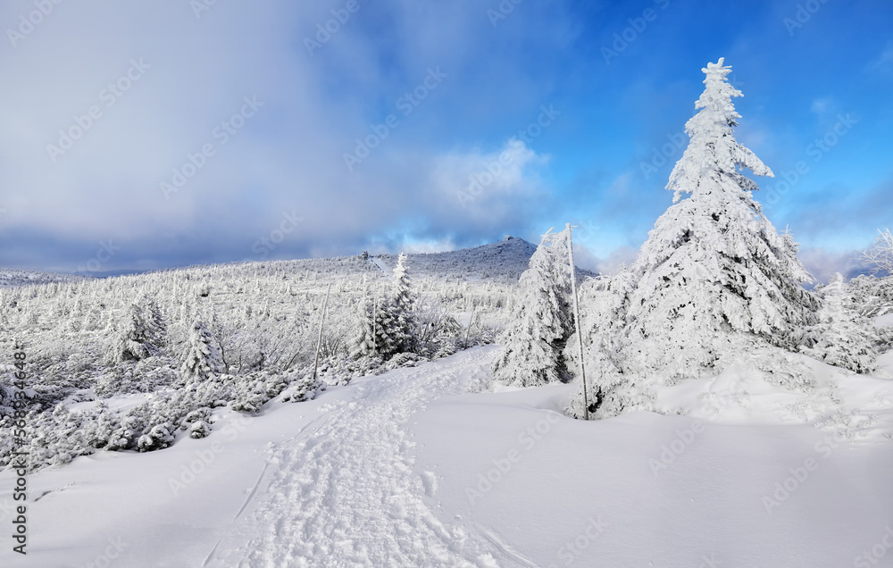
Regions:
<svg viewBox="0 0 893 568"><path fill-rule="evenodd" d="M893 219L886 1L11 0L0 21L0 266L445 250L572 221L610 271L671 205L719 57L776 173L757 199L820 280Z"/></svg>

